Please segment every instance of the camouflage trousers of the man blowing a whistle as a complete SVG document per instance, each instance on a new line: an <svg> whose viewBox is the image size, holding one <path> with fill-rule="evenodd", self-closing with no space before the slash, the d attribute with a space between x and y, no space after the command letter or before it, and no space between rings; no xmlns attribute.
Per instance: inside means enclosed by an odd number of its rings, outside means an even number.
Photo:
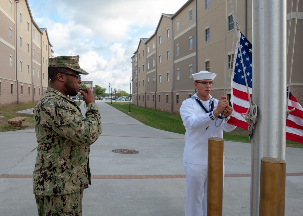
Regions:
<svg viewBox="0 0 303 216"><path fill-rule="evenodd" d="M73 194L35 195L39 216L82 216L83 190Z"/></svg>

